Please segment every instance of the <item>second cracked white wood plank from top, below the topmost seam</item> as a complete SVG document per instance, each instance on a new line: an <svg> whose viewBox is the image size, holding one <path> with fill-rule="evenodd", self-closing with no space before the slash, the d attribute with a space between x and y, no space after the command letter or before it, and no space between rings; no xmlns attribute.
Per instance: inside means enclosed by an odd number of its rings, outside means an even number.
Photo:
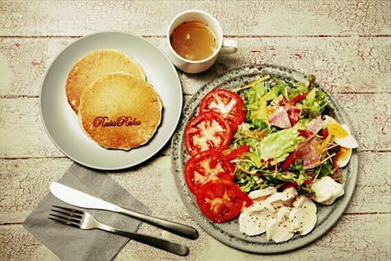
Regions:
<svg viewBox="0 0 391 261"><path fill-rule="evenodd" d="M0 95L38 96L41 79L57 54L76 39L0 39ZM166 39L148 38L162 50ZM332 93L389 93L390 38L241 38L239 52L220 55L198 75L179 72L183 92L195 93L217 74L248 64L275 64L314 74ZM1 72L0 72L1 75Z"/></svg>

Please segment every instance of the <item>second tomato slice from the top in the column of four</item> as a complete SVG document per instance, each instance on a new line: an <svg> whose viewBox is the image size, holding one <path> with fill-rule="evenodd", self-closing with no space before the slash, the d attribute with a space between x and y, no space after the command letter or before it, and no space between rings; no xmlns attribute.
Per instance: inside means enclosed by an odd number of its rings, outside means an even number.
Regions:
<svg viewBox="0 0 391 261"><path fill-rule="evenodd" d="M186 150L192 156L213 149L222 151L232 138L230 124L212 111L200 113L185 128Z"/></svg>

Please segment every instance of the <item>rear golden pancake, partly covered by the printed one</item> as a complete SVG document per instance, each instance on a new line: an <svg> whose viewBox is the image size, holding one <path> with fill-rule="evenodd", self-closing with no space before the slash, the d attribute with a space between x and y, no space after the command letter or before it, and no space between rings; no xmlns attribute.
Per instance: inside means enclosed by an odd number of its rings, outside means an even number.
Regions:
<svg viewBox="0 0 391 261"><path fill-rule="evenodd" d="M77 61L66 80L68 103L78 112L80 97L93 81L110 72L130 72L145 79L142 68L132 58L117 50L97 50Z"/></svg>

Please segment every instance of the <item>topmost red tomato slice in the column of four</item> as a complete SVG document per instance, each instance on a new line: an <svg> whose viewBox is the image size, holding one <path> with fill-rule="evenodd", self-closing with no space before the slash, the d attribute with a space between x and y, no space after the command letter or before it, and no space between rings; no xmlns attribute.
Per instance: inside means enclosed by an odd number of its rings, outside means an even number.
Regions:
<svg viewBox="0 0 391 261"><path fill-rule="evenodd" d="M236 131L239 124L243 123L245 110L243 99L230 90L216 89L205 95L199 106L199 112L214 111L219 113L230 123L232 131Z"/></svg>

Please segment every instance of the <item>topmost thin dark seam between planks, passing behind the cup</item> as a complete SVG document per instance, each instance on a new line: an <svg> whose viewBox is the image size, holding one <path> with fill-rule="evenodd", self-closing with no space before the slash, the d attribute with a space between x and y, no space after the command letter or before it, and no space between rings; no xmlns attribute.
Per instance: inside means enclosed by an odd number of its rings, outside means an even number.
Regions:
<svg viewBox="0 0 391 261"><path fill-rule="evenodd" d="M88 33L86 34L88 35ZM84 35L1 35L0 38L81 38ZM141 35L144 38L166 38L166 35ZM349 37L391 37L391 35L224 35L229 38L349 38Z"/></svg>

